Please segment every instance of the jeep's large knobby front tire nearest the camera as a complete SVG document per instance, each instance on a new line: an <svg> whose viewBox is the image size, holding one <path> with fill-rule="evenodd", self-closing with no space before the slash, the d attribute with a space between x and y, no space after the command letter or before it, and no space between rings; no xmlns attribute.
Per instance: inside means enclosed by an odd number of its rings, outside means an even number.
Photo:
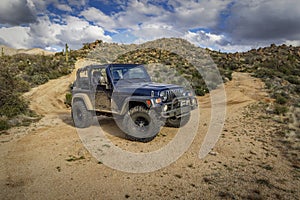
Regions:
<svg viewBox="0 0 300 200"><path fill-rule="evenodd" d="M148 110L144 106L131 108L124 116L122 129L127 139L149 142L159 133L162 122L154 110Z"/></svg>

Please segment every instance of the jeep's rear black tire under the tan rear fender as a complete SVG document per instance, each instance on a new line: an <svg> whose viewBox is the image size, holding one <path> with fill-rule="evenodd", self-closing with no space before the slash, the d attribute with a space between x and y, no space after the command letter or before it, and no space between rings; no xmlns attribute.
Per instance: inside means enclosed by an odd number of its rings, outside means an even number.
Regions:
<svg viewBox="0 0 300 200"><path fill-rule="evenodd" d="M75 101L72 105L72 118L75 127L86 128L92 124L93 115L82 101Z"/></svg>

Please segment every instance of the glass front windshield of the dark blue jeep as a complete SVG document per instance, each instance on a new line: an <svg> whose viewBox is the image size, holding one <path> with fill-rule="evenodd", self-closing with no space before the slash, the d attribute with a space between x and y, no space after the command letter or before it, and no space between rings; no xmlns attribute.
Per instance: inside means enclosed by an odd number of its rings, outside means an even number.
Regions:
<svg viewBox="0 0 300 200"><path fill-rule="evenodd" d="M119 81L128 83L151 82L143 65L115 64L110 66L110 73L114 84Z"/></svg>

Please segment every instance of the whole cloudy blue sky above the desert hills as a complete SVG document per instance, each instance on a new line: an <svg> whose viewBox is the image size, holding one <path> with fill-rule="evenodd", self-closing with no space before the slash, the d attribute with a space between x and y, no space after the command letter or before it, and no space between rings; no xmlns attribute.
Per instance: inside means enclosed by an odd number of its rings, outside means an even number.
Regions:
<svg viewBox="0 0 300 200"><path fill-rule="evenodd" d="M300 46L300 0L1 0L0 44L61 51L178 37L222 52Z"/></svg>

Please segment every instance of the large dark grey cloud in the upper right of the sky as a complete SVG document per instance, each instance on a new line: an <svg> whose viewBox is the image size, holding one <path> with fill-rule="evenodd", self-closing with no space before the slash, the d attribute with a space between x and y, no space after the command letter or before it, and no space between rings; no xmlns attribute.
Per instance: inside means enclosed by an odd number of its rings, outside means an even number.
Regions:
<svg viewBox="0 0 300 200"><path fill-rule="evenodd" d="M236 1L230 9L226 32L239 43L300 40L300 1Z"/></svg>

